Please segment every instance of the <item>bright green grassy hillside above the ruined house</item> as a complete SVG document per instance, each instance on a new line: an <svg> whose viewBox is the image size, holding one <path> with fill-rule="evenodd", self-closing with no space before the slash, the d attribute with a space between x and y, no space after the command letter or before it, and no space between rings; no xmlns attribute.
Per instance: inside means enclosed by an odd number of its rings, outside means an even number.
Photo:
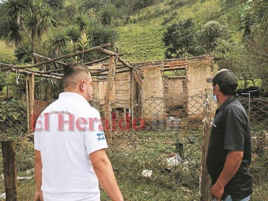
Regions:
<svg viewBox="0 0 268 201"><path fill-rule="evenodd" d="M190 3L185 6L175 7L175 4L170 5L170 2L172 1L162 1L145 8L131 16L131 24L119 27L120 39L117 45L120 52L125 53L124 58L129 61L164 58L161 39L165 26L190 17L194 18L195 23L204 24L210 20L218 21L221 15L225 15L230 29L234 30L232 17L237 5L241 3L237 1L236 4L227 7L220 0L204 3L188 1ZM162 25L164 21L167 23Z"/></svg>

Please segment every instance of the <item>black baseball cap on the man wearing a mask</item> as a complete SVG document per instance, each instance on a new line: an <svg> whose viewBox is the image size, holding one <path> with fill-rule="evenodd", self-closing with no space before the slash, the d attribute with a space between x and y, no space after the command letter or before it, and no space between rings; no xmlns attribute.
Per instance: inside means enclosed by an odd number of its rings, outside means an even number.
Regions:
<svg viewBox="0 0 268 201"><path fill-rule="evenodd" d="M215 82L218 85L228 86L236 84L236 86L238 86L238 81L235 74L231 70L225 68L221 69L213 77L208 77L206 81L209 83Z"/></svg>

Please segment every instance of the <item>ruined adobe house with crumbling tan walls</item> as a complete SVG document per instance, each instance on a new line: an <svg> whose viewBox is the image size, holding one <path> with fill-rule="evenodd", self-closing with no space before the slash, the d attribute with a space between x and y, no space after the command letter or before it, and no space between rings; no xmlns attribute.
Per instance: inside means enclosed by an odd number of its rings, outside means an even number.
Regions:
<svg viewBox="0 0 268 201"><path fill-rule="evenodd" d="M205 88L211 88L211 84L205 80L218 70L215 58L199 56L129 64L141 72L143 84L139 85L133 79L131 86L130 72L115 75L111 107L112 111L118 114L118 118L124 118L125 113L131 113L130 99L133 99L132 118L141 117L145 121L151 121L152 118L165 119L170 116L170 110L183 110L188 119L203 118L204 100L195 95L205 94ZM93 66L105 67L107 64ZM167 72L170 71L176 71L176 74L180 75L169 76ZM101 107L104 105L106 86L107 78L93 77L93 98L100 99Z"/></svg>

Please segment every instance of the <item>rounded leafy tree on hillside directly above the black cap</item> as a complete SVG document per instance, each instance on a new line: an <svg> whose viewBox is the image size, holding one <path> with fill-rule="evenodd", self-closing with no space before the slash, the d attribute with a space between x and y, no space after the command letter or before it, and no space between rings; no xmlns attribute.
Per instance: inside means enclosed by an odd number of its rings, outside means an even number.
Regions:
<svg viewBox="0 0 268 201"><path fill-rule="evenodd" d="M197 33L197 37L206 52L211 53L217 47L217 40L229 39L229 29L216 21L209 21Z"/></svg>

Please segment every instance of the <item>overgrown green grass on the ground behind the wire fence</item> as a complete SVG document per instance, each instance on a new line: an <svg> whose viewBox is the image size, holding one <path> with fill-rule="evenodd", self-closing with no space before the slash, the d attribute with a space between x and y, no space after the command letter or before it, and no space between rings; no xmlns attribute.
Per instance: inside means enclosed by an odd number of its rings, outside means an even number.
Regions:
<svg viewBox="0 0 268 201"><path fill-rule="evenodd" d="M199 200L202 131L201 127L197 129L191 125L176 131L121 131L115 134L107 155L125 200ZM257 130L266 130L266 126ZM19 142L16 145L18 176L25 176L25 170L34 164L33 143L30 140ZM178 148L177 143L182 143L183 149ZM252 151L259 155L260 152L255 151L257 144L259 142L252 141ZM165 160L178 153L182 153L183 162L167 169ZM251 164L253 200L264 201L268 196L266 165L267 155L259 155ZM144 169L153 171L151 179L141 177ZM19 200L33 200L34 179L18 181L18 186ZM0 182L0 194L4 191L4 182ZM103 190L101 200L111 200Z"/></svg>

